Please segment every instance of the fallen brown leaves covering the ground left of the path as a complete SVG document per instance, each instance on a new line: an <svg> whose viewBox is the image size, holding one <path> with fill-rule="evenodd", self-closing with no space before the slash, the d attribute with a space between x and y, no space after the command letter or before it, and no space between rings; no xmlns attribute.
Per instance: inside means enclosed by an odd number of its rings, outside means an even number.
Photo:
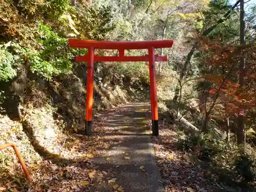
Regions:
<svg viewBox="0 0 256 192"><path fill-rule="evenodd" d="M93 177L96 175L92 158L97 157L102 150L116 141L114 137L105 136L108 132L105 127L97 125L97 123L94 124L94 134L90 138L79 134L58 133L56 141L58 142L59 139L60 143L63 143L62 138L66 138L66 142L56 155L49 152L47 157L43 158L33 151L33 148L32 150L29 148L26 154L21 151L29 173L33 177L32 183L26 179L15 154L8 153L14 161L5 165L0 173L0 190L3 192L7 190L20 192L91 191L90 186L94 185ZM55 148L55 144L51 148ZM10 149L7 151L12 152ZM30 158L33 157L31 153L38 157L36 161ZM101 181L104 174L98 175L97 181Z"/></svg>

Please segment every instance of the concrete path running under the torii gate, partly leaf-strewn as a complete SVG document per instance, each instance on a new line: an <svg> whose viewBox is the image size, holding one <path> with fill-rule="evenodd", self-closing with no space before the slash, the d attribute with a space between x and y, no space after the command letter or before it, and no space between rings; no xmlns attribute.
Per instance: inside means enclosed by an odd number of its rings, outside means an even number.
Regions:
<svg viewBox="0 0 256 192"><path fill-rule="evenodd" d="M118 142L113 143L101 157L94 158L98 169L108 177L92 191L163 192L161 176L151 142L148 125L150 103L131 103L104 114L101 121ZM110 184L114 178L119 190ZM113 180L112 180L113 181Z"/></svg>

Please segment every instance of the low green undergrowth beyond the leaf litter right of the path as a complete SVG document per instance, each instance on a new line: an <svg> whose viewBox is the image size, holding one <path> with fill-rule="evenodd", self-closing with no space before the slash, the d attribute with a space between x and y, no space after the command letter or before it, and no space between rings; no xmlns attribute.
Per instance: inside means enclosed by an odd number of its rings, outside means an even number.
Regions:
<svg viewBox="0 0 256 192"><path fill-rule="evenodd" d="M239 147L234 142L225 142L218 133L188 134L178 132L180 150L196 154L198 159L210 163L212 167L233 170L237 179L252 182L256 179L255 154L246 146L246 155L239 154Z"/></svg>

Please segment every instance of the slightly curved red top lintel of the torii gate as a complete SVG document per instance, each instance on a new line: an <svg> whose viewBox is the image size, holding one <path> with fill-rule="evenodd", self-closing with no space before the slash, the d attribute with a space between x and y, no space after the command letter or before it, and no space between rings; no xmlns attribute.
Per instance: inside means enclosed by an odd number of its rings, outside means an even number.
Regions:
<svg viewBox="0 0 256 192"><path fill-rule="evenodd" d="M81 40L69 39L70 47L76 48L94 48L94 49L149 49L149 48L171 48L173 40L154 40L154 41L97 41L97 40Z"/></svg>

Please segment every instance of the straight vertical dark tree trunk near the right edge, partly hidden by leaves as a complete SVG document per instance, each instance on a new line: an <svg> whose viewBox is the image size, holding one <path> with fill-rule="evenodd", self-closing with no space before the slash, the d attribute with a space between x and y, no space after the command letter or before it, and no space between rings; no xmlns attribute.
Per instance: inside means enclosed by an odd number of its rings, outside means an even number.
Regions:
<svg viewBox="0 0 256 192"><path fill-rule="evenodd" d="M245 45L245 22L244 22L244 0L240 1L240 45ZM239 84L240 89L244 87L244 69L245 69L245 54L242 53L240 65L239 65ZM237 142L238 144L242 144L245 142L244 140L244 116L239 115L238 117L238 133L237 133Z"/></svg>

